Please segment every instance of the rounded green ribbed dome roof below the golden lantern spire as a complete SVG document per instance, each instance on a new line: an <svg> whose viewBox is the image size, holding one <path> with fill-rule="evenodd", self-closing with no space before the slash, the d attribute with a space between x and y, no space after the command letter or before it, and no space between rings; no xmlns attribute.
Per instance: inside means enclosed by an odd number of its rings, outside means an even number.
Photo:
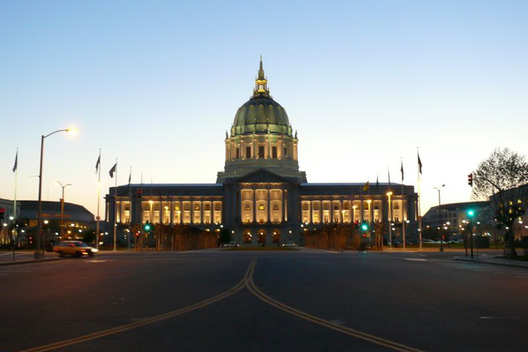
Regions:
<svg viewBox="0 0 528 352"><path fill-rule="evenodd" d="M232 135L246 133L292 135L292 127L281 104L271 97L256 96L243 104L234 115Z"/></svg>

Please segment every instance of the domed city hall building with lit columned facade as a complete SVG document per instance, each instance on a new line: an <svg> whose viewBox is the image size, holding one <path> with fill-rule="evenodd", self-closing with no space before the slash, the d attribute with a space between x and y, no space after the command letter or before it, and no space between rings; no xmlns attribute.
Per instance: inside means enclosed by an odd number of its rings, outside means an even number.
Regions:
<svg viewBox="0 0 528 352"><path fill-rule="evenodd" d="M364 183L311 184L298 166L298 139L285 108L267 87L262 61L253 96L234 115L225 135L225 167L214 184L118 186L106 195L107 223L188 224L227 228L241 245L303 243L303 232L331 223L383 221L388 237L417 236L413 186ZM403 194L402 194L403 189ZM117 198L115 199L115 194Z"/></svg>

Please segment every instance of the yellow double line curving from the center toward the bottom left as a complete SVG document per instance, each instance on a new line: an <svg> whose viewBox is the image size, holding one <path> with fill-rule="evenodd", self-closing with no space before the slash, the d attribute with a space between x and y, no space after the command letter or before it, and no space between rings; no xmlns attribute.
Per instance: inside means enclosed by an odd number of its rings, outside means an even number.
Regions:
<svg viewBox="0 0 528 352"><path fill-rule="evenodd" d="M165 313L165 314L159 314L159 316L153 316L152 318L147 318L147 319L140 320L137 322L131 322L129 324L121 325L120 327L114 327L111 329L98 331L96 333L89 333L88 335L79 336L78 338L72 338L69 340L54 342L52 344L45 344L44 346L34 347L32 349L25 349L21 352L44 352L44 351L52 351L54 349L62 349L63 347L71 346L72 344L78 344L80 342L87 342L89 340L95 340L97 338L102 338L103 336L109 336L115 333L121 333L123 331L135 329L137 327L142 327L144 325L152 324L153 322L159 322L160 320L165 320L168 318L172 318L173 316L179 316L180 314L188 313L189 311L194 311L195 309L206 307L212 303L218 302L219 300L223 300L224 298L227 298L231 296L232 294L236 294L236 292L239 292L241 289L243 289L245 287L245 283L247 281L248 275L250 274L250 272L252 272L252 268L254 269L255 261L256 259L253 258L250 263L250 266L248 267L248 270L246 270L244 277L239 283L234 285L232 288L228 289L228 291L225 291L222 294L219 294L218 296L214 296L207 300L202 300L201 302L195 303L194 305L190 305L188 307L176 309L175 311L169 311L168 313Z"/></svg>

